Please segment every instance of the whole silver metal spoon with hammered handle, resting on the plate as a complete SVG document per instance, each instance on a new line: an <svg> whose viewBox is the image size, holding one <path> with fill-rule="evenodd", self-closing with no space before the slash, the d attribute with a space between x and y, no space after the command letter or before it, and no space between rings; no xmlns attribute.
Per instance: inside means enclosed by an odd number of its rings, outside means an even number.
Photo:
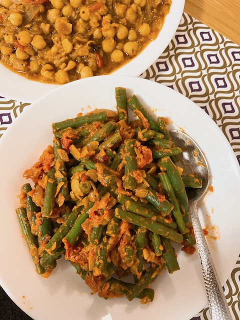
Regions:
<svg viewBox="0 0 240 320"><path fill-rule="evenodd" d="M189 191L187 190L187 196L189 213L201 261L210 317L212 320L232 320L196 209L197 201L209 186L209 171L206 159L198 145L187 134L179 130L171 130L170 135L173 142L182 149L180 163L177 162L176 164L182 167L184 174L195 174L203 180L202 187L199 189L190 188Z"/></svg>

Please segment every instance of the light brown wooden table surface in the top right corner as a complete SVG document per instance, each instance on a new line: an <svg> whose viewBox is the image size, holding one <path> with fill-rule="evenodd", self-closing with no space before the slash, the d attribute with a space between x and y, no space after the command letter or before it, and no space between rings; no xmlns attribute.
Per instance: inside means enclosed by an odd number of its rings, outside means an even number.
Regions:
<svg viewBox="0 0 240 320"><path fill-rule="evenodd" d="M184 11L240 45L240 0L185 0Z"/></svg>

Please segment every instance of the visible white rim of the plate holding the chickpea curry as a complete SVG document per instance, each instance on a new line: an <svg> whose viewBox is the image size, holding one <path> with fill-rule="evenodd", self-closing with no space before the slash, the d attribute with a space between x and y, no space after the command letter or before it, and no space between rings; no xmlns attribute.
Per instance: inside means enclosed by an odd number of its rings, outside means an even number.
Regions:
<svg viewBox="0 0 240 320"><path fill-rule="evenodd" d="M185 0L172 0L169 14L158 37L138 56L113 72L117 75L138 76L145 71L165 50L179 24ZM46 84L32 81L11 72L0 63L0 96L21 102L34 102L45 93L58 87L58 84Z"/></svg>

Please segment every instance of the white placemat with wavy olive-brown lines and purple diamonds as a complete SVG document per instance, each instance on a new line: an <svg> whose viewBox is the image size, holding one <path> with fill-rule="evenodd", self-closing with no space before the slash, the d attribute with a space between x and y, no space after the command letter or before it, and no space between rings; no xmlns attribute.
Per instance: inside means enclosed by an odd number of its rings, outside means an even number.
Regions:
<svg viewBox="0 0 240 320"><path fill-rule="evenodd" d="M227 137L240 164L240 47L237 44L183 13L168 47L140 77L167 85L204 109ZM0 136L27 104L0 98ZM224 284L224 292L233 319L239 320L240 256ZM209 319L206 307L191 320Z"/></svg>

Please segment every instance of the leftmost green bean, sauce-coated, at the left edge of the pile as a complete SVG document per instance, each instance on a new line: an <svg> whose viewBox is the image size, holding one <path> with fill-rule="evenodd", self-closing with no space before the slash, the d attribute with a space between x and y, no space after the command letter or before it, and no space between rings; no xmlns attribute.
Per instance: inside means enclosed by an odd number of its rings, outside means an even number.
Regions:
<svg viewBox="0 0 240 320"><path fill-rule="evenodd" d="M37 273L42 274L45 272L45 270L39 262L37 238L31 233L31 227L26 216L26 209L23 207L19 207L16 209L16 214L21 227L21 232L28 246L32 260L35 263L36 271Z"/></svg>

